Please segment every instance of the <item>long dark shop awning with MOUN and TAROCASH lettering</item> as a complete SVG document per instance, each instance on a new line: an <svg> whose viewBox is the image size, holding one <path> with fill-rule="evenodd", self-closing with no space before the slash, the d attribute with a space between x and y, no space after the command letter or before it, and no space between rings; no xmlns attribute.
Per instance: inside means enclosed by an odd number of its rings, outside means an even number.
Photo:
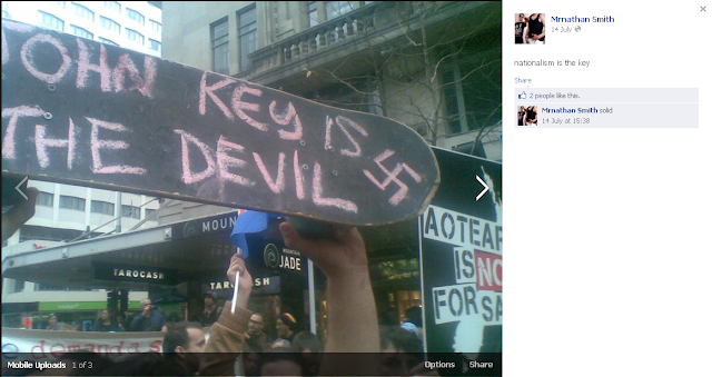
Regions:
<svg viewBox="0 0 712 377"><path fill-rule="evenodd" d="M13 246L6 247L2 276L49 286L95 289L148 289L150 285L205 280L207 275L224 270L235 252L228 239L234 225L229 219L235 217L236 211L228 211L21 252L13 250ZM360 231L372 261L402 255L404 250L417 255L415 219ZM275 237L275 232L269 237Z"/></svg>

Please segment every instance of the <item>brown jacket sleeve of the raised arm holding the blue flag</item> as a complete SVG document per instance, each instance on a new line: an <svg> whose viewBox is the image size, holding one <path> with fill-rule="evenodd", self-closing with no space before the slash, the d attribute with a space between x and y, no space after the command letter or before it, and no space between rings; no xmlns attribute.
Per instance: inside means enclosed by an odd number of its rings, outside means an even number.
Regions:
<svg viewBox="0 0 712 377"><path fill-rule="evenodd" d="M237 308L230 312L231 302L225 302L218 321L210 327L210 338L200 359L200 376L235 376L235 359L243 353L247 323L251 311Z"/></svg>

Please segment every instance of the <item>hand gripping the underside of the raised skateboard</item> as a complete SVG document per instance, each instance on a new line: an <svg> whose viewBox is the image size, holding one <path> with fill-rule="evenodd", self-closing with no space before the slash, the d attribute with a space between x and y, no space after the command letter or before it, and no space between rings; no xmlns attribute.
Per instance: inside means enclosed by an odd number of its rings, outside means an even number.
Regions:
<svg viewBox="0 0 712 377"><path fill-rule="evenodd" d="M327 278L348 277L354 272L368 271L366 245L358 230L347 226L334 226L334 229L335 239L305 239L299 236L294 225L279 225L285 245L312 259Z"/></svg>

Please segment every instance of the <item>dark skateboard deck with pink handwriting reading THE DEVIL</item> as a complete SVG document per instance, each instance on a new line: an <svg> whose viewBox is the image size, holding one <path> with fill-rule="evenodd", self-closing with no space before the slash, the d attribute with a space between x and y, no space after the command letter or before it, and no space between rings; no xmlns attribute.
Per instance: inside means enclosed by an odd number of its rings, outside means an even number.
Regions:
<svg viewBox="0 0 712 377"><path fill-rule="evenodd" d="M7 20L2 172L354 226L439 182L397 121Z"/></svg>

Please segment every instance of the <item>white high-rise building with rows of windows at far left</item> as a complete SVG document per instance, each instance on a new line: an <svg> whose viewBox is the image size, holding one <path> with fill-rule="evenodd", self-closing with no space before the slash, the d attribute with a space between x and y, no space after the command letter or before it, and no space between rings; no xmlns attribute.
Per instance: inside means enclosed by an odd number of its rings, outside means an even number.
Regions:
<svg viewBox="0 0 712 377"><path fill-rule="evenodd" d="M161 10L146 1L3 1L2 19L161 54ZM36 215L3 242L3 258L158 224L157 198L42 181L28 186L40 191ZM146 296L134 291L129 301L136 306ZM107 290L3 279L2 302L3 326L16 327L26 316L41 326L56 312L62 321L87 327L88 318L107 308Z"/></svg>

